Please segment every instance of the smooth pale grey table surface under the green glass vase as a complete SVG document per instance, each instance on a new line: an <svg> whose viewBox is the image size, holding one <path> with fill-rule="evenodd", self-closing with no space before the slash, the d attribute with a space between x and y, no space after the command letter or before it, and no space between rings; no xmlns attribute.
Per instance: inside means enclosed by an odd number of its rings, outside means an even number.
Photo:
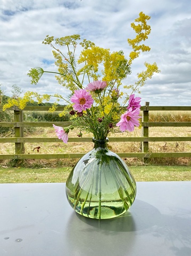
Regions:
<svg viewBox="0 0 191 256"><path fill-rule="evenodd" d="M71 208L65 183L0 184L1 256L190 256L191 182L137 182L130 210L110 220Z"/></svg>

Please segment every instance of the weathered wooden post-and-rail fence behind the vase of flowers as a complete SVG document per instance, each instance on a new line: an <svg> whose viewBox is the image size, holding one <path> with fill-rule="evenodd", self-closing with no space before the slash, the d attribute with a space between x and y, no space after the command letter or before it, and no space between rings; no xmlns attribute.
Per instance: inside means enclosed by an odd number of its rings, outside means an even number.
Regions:
<svg viewBox="0 0 191 256"><path fill-rule="evenodd" d="M49 106L27 106L23 111L48 111ZM62 111L63 107L58 107L57 111ZM191 111L191 106L149 106L149 103L145 103L142 106L142 136L141 137L110 137L110 142L140 142L142 152L134 153L118 153L122 158L143 158L146 161L148 158L163 158L163 157L191 157L191 152L149 152L149 142L178 142L178 141L191 141L191 137L149 137L150 127L190 127L191 122L150 122L149 111ZM52 127L52 122L23 122L23 111L18 107L9 108L14 111L14 122L0 122L0 127L13 127L14 137L0 137L0 143L14 143L14 154L0 154L0 159L62 159L62 158L81 158L84 153L56 153L56 154L25 154L24 143L53 143L61 142L58 138L30 138L24 137L24 127ZM2 106L0 106L2 111ZM66 127L71 122L54 122L57 126ZM70 142L92 142L92 137L82 138L69 138Z"/></svg>

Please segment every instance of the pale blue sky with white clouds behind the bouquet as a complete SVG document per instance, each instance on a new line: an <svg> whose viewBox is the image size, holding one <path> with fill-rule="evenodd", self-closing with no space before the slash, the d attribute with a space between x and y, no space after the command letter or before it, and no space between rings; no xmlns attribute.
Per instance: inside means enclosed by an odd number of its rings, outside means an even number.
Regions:
<svg viewBox="0 0 191 256"><path fill-rule="evenodd" d="M22 92L69 95L53 74L44 74L37 85L27 75L32 67L56 71L52 48L42 44L46 35L80 34L111 52L131 51L130 27L143 11L150 15L151 47L134 61L123 84L137 81L145 61L161 70L141 88L142 105L191 106L191 1L190 0L0 0L0 84L7 96L12 86Z"/></svg>

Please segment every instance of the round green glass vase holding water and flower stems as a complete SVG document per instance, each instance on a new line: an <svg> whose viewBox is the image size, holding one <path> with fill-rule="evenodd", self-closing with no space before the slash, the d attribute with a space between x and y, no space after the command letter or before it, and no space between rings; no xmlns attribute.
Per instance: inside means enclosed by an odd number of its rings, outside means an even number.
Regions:
<svg viewBox="0 0 191 256"><path fill-rule="evenodd" d="M94 139L94 148L73 167L67 198L79 214L110 219L125 213L136 197L136 182L127 165L107 149L108 139Z"/></svg>

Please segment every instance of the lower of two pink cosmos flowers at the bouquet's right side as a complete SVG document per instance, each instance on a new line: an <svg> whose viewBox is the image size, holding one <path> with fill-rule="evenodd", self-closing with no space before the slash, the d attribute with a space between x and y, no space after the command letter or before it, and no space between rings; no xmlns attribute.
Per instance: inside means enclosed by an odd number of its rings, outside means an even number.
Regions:
<svg viewBox="0 0 191 256"><path fill-rule="evenodd" d="M139 112L140 108L132 110L132 107L130 107L126 113L121 115L121 120L116 124L116 126L119 126L121 131L134 131L135 126L139 126Z"/></svg>

